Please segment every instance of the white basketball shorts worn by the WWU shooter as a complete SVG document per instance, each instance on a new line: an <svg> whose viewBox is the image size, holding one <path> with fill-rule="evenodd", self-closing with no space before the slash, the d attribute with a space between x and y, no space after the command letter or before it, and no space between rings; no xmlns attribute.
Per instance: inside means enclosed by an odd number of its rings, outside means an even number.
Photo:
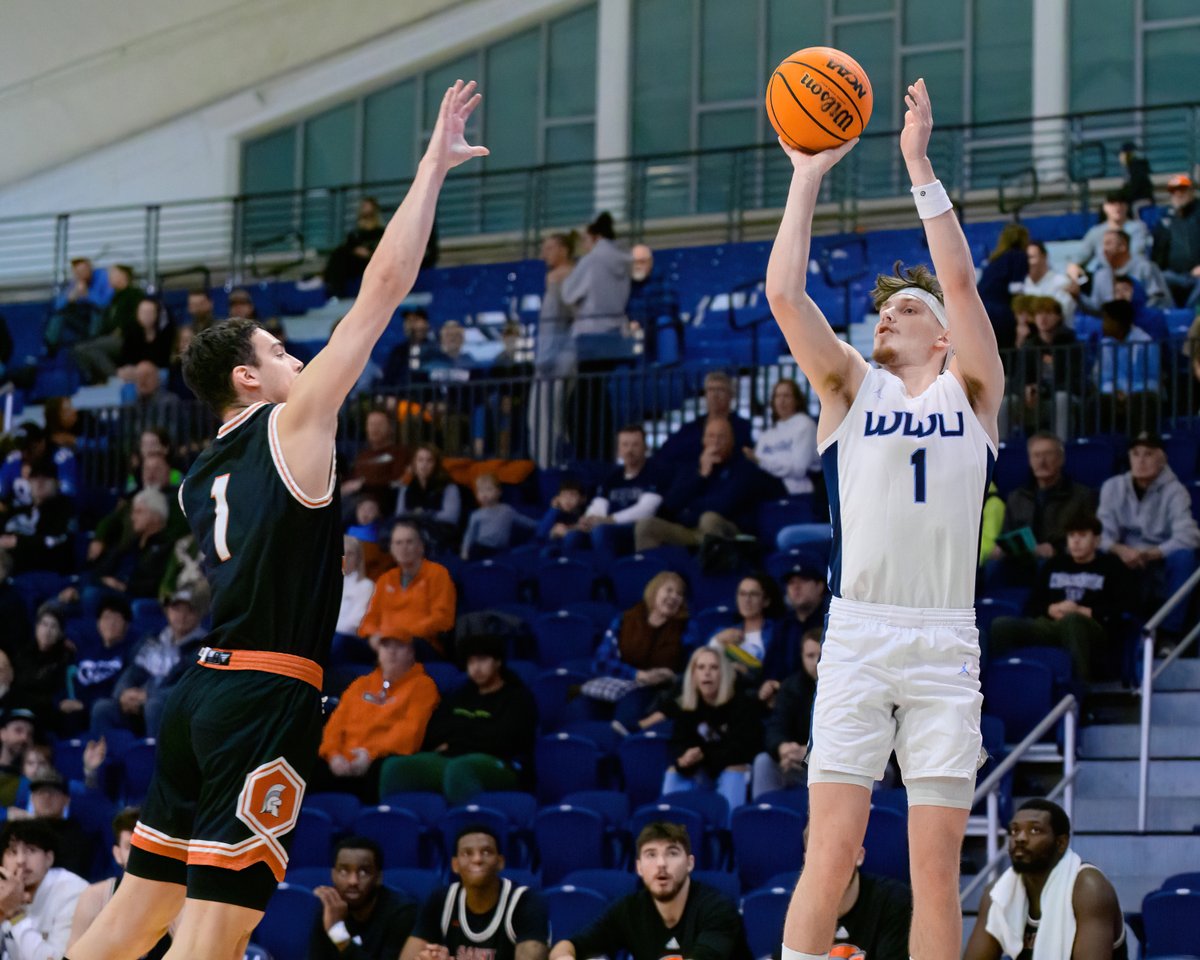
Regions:
<svg viewBox="0 0 1200 960"><path fill-rule="evenodd" d="M869 784L895 750L913 780L967 781L982 766L979 631L973 610L833 598L812 708L809 782ZM970 806L961 785L949 805Z"/></svg>

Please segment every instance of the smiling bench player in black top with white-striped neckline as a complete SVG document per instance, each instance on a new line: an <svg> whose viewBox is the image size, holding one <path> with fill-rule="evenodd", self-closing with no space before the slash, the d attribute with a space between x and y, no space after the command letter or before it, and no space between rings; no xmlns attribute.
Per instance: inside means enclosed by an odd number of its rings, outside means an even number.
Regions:
<svg viewBox="0 0 1200 960"><path fill-rule="evenodd" d="M536 890L500 876L504 857L491 828L458 830L450 870L456 882L425 901L400 960L546 960L546 904Z"/></svg>

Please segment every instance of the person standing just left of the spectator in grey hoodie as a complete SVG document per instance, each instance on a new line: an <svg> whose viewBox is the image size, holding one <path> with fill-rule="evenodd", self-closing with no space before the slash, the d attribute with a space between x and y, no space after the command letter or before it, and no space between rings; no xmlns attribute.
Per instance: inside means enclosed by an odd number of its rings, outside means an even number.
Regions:
<svg viewBox="0 0 1200 960"><path fill-rule="evenodd" d="M578 366L575 340L571 336L574 311L563 296L563 283L574 266L572 247L572 238L562 233L552 233L541 241L546 290L538 313L533 348L533 398L529 403L532 454L541 467L550 467L558 452L558 442L565 432L565 378L574 377Z"/></svg>

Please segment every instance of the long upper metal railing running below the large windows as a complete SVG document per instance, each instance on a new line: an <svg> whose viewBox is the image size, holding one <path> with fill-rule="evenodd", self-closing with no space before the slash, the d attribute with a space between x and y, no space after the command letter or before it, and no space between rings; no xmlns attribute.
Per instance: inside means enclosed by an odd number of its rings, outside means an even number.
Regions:
<svg viewBox="0 0 1200 960"><path fill-rule="evenodd" d="M1010 211L1043 196L1055 196L1060 209L1085 209L1090 180L1122 175L1109 146L1126 139L1142 143L1159 173L1192 172L1200 160L1200 104L938 127L929 152L959 198L1002 188ZM822 202L833 204L840 229L853 229L870 202L907 193L898 144L898 131L871 131L827 179ZM508 170L468 167L446 180L438 230L444 240L472 238L527 257L546 230L577 227L607 209L635 239L653 226L736 241L778 216L790 180L774 143ZM353 226L360 198L371 194L394 209L409 182L0 218L0 284L62 283L72 257L128 263L150 283L203 263L238 283L330 250Z"/></svg>

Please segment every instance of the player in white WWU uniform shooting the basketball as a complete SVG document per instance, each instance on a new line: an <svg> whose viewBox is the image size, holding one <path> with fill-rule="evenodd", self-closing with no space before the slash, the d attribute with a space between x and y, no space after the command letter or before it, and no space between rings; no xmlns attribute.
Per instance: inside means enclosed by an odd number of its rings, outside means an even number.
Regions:
<svg viewBox="0 0 1200 960"><path fill-rule="evenodd" d="M828 955L871 786L893 750L910 804L910 953L948 960L962 944L959 853L982 746L974 570L1004 372L966 238L925 155L924 80L905 101L900 150L936 278L924 268L878 278L876 366L834 335L804 289L821 179L853 142L816 155L785 146L792 185L767 268L772 310L821 397L834 534L810 839L784 960Z"/></svg>

